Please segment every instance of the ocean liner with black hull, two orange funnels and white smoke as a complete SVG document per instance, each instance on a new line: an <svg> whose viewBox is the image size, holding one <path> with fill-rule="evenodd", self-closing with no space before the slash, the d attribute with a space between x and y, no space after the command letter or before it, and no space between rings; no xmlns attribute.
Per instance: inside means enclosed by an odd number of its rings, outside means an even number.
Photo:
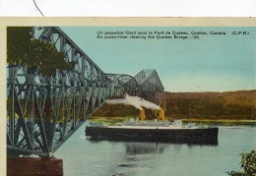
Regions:
<svg viewBox="0 0 256 176"><path fill-rule="evenodd" d="M124 100L109 100L107 103L136 104L141 120L126 120L118 125L90 122L86 127L86 136L90 140L218 145L218 127L182 124L180 120L166 121L163 110L152 102L128 96ZM147 120L142 107L155 108L158 119Z"/></svg>

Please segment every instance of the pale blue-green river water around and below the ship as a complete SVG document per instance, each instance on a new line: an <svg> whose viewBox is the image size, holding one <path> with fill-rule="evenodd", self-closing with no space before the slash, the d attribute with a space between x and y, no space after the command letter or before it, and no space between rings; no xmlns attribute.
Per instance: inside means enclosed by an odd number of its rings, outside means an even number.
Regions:
<svg viewBox="0 0 256 176"><path fill-rule="evenodd" d="M256 127L220 127L217 146L91 142L85 128L55 152L65 176L222 176L241 170L239 153L256 148Z"/></svg>

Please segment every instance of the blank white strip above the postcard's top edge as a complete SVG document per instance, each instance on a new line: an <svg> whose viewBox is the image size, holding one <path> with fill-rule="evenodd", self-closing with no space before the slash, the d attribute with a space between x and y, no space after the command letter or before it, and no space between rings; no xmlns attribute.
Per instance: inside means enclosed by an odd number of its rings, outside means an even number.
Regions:
<svg viewBox="0 0 256 176"><path fill-rule="evenodd" d="M45 17L256 17L255 0L35 0ZM32 0L0 0L0 16L41 17Z"/></svg>

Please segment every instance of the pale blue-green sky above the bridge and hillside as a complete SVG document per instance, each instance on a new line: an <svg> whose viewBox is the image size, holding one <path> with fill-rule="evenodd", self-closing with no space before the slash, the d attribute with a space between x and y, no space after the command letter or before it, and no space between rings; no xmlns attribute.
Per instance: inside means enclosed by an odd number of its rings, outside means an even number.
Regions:
<svg viewBox="0 0 256 176"><path fill-rule="evenodd" d="M135 76L156 69L164 90L255 89L256 28L63 27L105 73ZM200 39L96 38L97 31L206 31ZM210 34L225 31L225 35ZM232 35L246 31L247 35ZM156 35L155 35L156 36Z"/></svg>

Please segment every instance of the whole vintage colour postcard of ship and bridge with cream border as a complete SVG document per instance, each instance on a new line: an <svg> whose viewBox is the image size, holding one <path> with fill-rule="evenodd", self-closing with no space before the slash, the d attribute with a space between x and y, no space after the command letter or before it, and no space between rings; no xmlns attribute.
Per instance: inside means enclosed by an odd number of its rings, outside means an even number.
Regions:
<svg viewBox="0 0 256 176"><path fill-rule="evenodd" d="M255 18L1 18L1 35L7 175L256 173Z"/></svg>

